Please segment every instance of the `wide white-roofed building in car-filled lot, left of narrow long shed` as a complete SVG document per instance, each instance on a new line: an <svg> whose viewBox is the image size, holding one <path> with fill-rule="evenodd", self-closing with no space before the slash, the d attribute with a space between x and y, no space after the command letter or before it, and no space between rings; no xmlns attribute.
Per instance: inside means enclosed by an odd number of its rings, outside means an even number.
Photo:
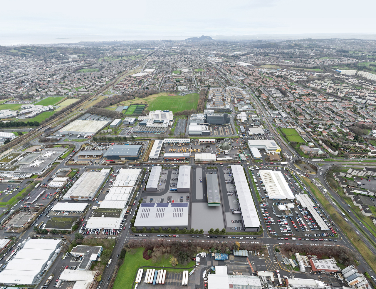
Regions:
<svg viewBox="0 0 376 289"><path fill-rule="evenodd" d="M271 199L293 200L295 196L279 170L259 170L265 190Z"/></svg>

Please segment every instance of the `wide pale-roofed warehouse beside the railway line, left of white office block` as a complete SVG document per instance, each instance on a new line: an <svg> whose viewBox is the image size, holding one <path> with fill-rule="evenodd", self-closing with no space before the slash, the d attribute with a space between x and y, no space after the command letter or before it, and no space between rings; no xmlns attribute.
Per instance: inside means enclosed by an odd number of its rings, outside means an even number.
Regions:
<svg viewBox="0 0 376 289"><path fill-rule="evenodd" d="M59 130L60 134L94 135L105 127L109 122L106 120L82 120L76 119Z"/></svg>

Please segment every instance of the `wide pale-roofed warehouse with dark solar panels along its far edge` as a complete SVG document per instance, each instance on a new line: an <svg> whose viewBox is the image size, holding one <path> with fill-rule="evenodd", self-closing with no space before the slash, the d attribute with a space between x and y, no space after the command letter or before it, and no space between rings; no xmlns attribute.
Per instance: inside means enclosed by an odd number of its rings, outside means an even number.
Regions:
<svg viewBox="0 0 376 289"><path fill-rule="evenodd" d="M176 228L188 226L189 203L141 203L134 226L137 230L146 227Z"/></svg>

